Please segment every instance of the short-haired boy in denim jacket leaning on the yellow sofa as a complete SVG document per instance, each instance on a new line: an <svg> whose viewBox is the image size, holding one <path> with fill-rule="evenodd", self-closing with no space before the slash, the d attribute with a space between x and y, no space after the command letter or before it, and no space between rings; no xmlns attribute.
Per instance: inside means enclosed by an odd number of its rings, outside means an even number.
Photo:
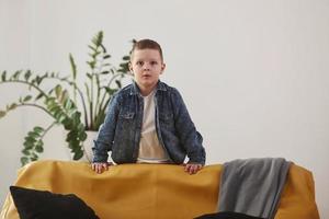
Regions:
<svg viewBox="0 0 329 219"><path fill-rule="evenodd" d="M159 80L166 65L157 42L137 42L131 55L134 82L112 97L93 147L92 170L107 170L107 151L120 163L189 162L196 173L205 163L202 136L195 129L179 91Z"/></svg>

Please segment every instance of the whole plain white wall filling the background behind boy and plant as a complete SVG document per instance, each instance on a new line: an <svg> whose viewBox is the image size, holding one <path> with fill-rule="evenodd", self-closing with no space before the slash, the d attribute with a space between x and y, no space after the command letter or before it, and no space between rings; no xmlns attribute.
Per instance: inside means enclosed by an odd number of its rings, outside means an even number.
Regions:
<svg viewBox="0 0 329 219"><path fill-rule="evenodd" d="M329 218L329 1L0 0L0 70L68 72L68 53L81 70L99 30L114 62L132 38L162 45L162 80L183 94L208 164L292 160L313 171L321 217ZM0 108L23 92L0 87ZM0 120L1 199L35 120L48 122L31 110ZM60 131L46 139L45 158L66 158L50 140Z"/></svg>

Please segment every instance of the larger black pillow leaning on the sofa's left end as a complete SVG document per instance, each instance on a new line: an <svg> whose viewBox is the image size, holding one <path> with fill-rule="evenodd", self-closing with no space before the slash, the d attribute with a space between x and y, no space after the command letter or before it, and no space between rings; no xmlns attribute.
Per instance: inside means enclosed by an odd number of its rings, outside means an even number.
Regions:
<svg viewBox="0 0 329 219"><path fill-rule="evenodd" d="M21 219L99 219L94 211L73 194L61 195L10 186Z"/></svg>

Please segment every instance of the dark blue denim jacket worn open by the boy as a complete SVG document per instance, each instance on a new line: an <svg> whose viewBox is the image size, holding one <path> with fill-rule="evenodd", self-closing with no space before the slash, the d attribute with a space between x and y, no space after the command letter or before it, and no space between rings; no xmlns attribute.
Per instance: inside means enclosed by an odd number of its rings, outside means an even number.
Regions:
<svg viewBox="0 0 329 219"><path fill-rule="evenodd" d="M170 161L205 163L203 138L195 129L179 91L159 81L155 94L156 131ZM135 163L143 125L144 99L134 82L114 94L104 123L94 140L93 162L106 162L107 152L115 163Z"/></svg>

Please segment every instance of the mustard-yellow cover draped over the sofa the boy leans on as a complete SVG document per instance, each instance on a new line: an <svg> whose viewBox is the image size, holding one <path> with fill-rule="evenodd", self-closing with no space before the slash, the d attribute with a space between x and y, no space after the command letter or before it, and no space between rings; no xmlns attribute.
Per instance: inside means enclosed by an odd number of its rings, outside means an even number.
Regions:
<svg viewBox="0 0 329 219"><path fill-rule="evenodd" d="M76 194L101 219L191 219L216 212L220 164L207 165L189 175L171 164L122 164L103 174L89 163L36 161L20 169L16 186ZM1 219L19 219L10 194ZM313 175L293 164L275 219L318 219Z"/></svg>

